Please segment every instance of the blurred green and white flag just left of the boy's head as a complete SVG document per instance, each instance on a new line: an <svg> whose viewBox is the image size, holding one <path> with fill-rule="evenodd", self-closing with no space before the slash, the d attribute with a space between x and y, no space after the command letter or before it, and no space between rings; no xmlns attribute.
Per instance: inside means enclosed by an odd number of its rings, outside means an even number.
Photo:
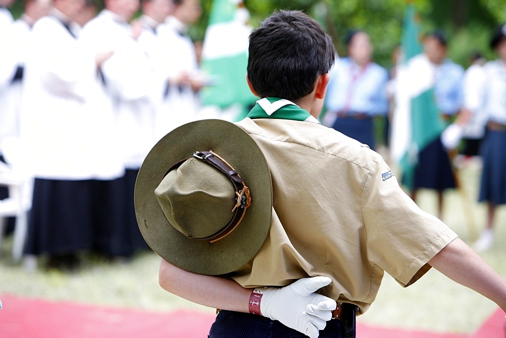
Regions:
<svg viewBox="0 0 506 338"><path fill-rule="evenodd" d="M210 86L201 91L202 105L221 109L242 107L244 117L248 106L258 97L246 82L248 37L247 10L241 0L215 0L202 46L202 70L209 75Z"/></svg>

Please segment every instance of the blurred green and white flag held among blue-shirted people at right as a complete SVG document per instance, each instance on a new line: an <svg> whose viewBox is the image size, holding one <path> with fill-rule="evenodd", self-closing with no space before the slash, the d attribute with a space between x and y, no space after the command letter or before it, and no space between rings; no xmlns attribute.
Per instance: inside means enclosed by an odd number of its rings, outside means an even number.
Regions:
<svg viewBox="0 0 506 338"><path fill-rule="evenodd" d="M412 5L406 7L402 57L397 65L395 110L390 150L403 182L412 188L418 153L444 130L434 97L434 67L423 53L420 28Z"/></svg>

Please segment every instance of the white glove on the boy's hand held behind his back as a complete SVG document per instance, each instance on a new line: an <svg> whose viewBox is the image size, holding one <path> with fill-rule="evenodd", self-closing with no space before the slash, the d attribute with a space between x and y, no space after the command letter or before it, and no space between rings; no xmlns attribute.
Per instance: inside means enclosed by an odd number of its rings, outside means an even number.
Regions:
<svg viewBox="0 0 506 338"><path fill-rule="evenodd" d="M332 310L337 304L315 291L331 281L328 277L316 276L299 279L282 288L268 287L260 311L264 317L279 320L285 326L316 338L318 331L323 330L327 320L332 318Z"/></svg>

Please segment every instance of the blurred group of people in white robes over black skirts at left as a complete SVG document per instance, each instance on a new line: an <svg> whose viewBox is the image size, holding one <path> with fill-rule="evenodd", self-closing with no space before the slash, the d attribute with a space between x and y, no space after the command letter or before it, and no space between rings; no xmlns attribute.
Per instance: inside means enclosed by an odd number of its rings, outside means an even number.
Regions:
<svg viewBox="0 0 506 338"><path fill-rule="evenodd" d="M129 258L147 248L133 200L144 157L207 117L187 34L200 4L106 0L98 12L85 0L28 0L13 21L12 3L0 9L0 142L19 140L18 166L34 177L24 252L64 268L83 251Z"/></svg>

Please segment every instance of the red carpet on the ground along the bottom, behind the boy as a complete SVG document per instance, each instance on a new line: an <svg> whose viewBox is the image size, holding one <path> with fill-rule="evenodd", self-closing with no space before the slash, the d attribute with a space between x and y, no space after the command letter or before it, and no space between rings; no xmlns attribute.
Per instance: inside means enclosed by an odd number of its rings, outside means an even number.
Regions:
<svg viewBox="0 0 506 338"><path fill-rule="evenodd" d="M172 313L49 302L2 294L0 336L38 337L206 337L215 316L196 311ZM474 334L438 334L379 328L359 323L358 337L504 338L504 314L498 309Z"/></svg>

